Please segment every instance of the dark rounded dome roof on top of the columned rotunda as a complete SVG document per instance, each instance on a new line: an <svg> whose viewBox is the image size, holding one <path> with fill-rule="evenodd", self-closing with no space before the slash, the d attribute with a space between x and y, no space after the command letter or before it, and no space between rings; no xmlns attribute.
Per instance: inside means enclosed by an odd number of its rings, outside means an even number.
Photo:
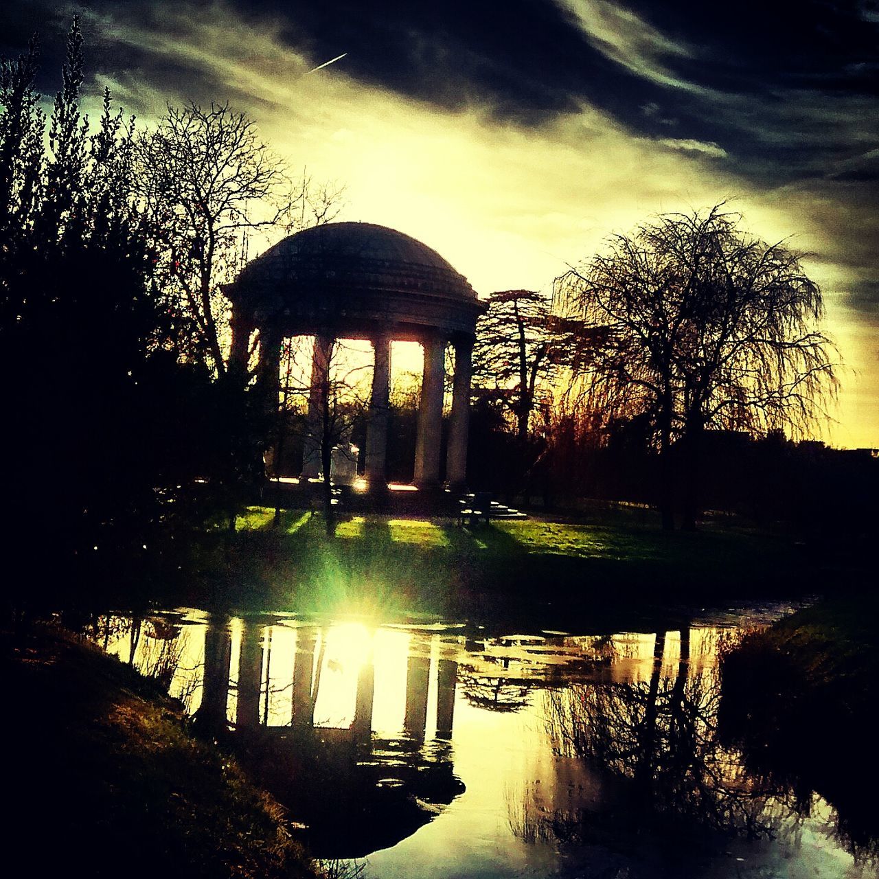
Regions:
<svg viewBox="0 0 879 879"><path fill-rule="evenodd" d="M466 278L439 253L396 229L334 222L303 229L245 266L236 287L284 287L284 298L322 289L410 291L476 300Z"/></svg>

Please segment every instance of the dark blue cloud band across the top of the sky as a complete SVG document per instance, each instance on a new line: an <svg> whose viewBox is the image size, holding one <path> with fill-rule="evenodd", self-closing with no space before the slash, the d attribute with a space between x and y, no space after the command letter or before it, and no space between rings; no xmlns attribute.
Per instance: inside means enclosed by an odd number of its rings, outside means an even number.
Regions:
<svg viewBox="0 0 879 879"><path fill-rule="evenodd" d="M160 32L169 10L193 21L216 4L144 0L83 4L109 21ZM48 30L57 60L62 20L47 2L7 3L8 48ZM737 173L766 185L824 174L879 139L879 15L873 3L693 4L689 0L236 0L251 22L317 60L347 53L365 84L446 109L481 105L499 120L538 126L584 103L636 134L716 144ZM88 23L87 23L88 24ZM95 33L92 64L155 84L195 71L157 64ZM230 26L234 22L230 20Z"/></svg>

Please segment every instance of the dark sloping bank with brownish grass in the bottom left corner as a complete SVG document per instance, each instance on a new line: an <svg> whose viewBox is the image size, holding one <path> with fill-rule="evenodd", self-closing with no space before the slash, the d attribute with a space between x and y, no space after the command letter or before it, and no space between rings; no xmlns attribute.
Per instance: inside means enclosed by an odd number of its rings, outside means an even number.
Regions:
<svg viewBox="0 0 879 879"><path fill-rule="evenodd" d="M4 633L0 663L11 875L316 875L280 805L154 682L49 624Z"/></svg>

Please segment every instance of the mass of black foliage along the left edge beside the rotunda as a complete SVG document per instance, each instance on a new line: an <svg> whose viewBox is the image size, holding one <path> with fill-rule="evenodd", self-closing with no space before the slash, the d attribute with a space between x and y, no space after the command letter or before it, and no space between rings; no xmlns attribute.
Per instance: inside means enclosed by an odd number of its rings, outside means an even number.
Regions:
<svg viewBox="0 0 879 879"><path fill-rule="evenodd" d="M178 362L137 198L134 120L105 92L80 110L83 40L71 27L48 120L37 47L0 69L0 374L7 537L41 588L98 569L142 570L194 478L234 516L258 461L246 396ZM202 511L203 512L203 511Z"/></svg>

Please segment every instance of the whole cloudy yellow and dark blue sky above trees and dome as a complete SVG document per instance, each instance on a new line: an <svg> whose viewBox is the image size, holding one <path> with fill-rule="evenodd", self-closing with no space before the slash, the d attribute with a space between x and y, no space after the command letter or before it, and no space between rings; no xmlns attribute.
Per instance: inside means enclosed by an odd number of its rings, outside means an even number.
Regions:
<svg viewBox="0 0 879 879"><path fill-rule="evenodd" d="M730 199L825 292L846 361L829 439L879 447L875 0L6 0L0 54L39 32L47 94L77 11L91 94L144 125L229 100L346 186L340 219L415 236L483 295Z"/></svg>

